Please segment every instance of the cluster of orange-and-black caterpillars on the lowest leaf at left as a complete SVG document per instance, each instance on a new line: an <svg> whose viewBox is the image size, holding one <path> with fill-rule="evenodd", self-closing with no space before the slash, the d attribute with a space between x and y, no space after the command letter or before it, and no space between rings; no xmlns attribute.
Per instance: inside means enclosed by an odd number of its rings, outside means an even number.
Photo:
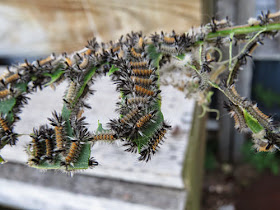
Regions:
<svg viewBox="0 0 280 210"><path fill-rule="evenodd" d="M66 135L66 121L62 116L53 113L53 118L49 118L52 128L47 125L40 126L39 129L33 129L30 135L31 142L27 147L29 155L28 164L30 166L39 166L44 163L65 167L65 170L71 170L80 158L82 147L89 144L91 137L85 127L83 119L76 120L72 124L73 136ZM98 162L93 158L88 159L88 166L97 166Z"/></svg>

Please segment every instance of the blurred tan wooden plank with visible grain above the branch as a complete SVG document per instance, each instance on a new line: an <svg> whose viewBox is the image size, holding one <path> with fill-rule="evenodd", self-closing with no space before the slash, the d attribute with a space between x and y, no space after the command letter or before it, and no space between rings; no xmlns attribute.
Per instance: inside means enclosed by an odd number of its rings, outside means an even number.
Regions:
<svg viewBox="0 0 280 210"><path fill-rule="evenodd" d="M93 35L107 42L131 30L184 32L201 23L191 0L0 0L0 54L72 52Z"/></svg>

